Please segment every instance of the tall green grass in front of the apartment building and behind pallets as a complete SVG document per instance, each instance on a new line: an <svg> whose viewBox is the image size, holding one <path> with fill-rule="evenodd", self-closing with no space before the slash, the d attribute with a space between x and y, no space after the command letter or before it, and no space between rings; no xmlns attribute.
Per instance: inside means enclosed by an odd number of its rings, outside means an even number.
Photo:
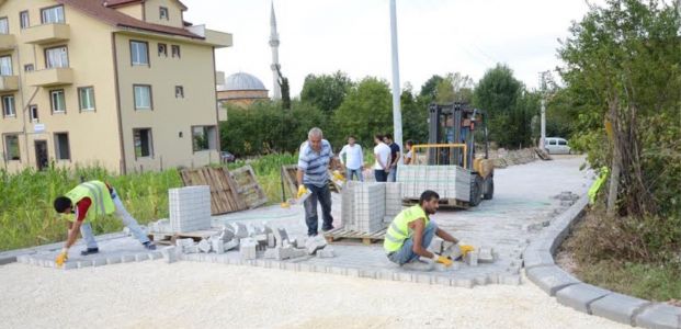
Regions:
<svg viewBox="0 0 681 329"><path fill-rule="evenodd" d="M250 164L270 204L281 201L280 168L297 162L294 155L269 155L237 161L230 169ZM105 169L24 170L9 174L0 170L0 251L63 241L67 222L55 213L52 202L76 186L81 179L110 182L130 214L140 223L168 217L168 190L182 186L175 169L162 172L113 175ZM121 220L103 218L92 224L95 234L120 231Z"/></svg>

